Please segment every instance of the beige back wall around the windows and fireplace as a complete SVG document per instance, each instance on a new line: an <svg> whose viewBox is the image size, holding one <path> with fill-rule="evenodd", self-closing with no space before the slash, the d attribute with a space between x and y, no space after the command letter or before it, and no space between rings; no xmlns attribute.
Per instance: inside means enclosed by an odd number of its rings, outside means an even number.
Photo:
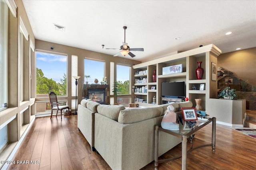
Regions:
<svg viewBox="0 0 256 170"><path fill-rule="evenodd" d="M53 47L54 49L51 50L50 47ZM72 86L72 76L71 76L71 55L78 56L78 76L81 76L80 79L78 79L78 104L82 100L82 85L84 82L84 58L88 59L96 59L101 60L105 62L105 76L107 77L107 81L110 82L110 62L114 62L115 64L126 64L126 65L134 65L141 63L140 61L135 61L129 59L129 57L122 58L122 57L113 57L112 55L106 55L103 53L97 53L94 51L88 51L84 49L79 49L75 47L70 47L66 45L60 45L56 43L50 43L47 41L41 41L36 39L36 50L43 50L43 51L50 51L54 53L62 53L68 55L68 71L67 71L67 85L68 85L68 97L63 97L62 99L68 100L68 105L71 106L71 100L75 99L75 96L71 96L71 86ZM131 69L131 74L134 75L134 70ZM132 76L132 80L134 77ZM131 82L133 82L131 80ZM99 80L100 81L100 80ZM111 85L110 85L111 86ZM110 96L114 97L114 96ZM44 99L36 99L38 100L44 100Z"/></svg>

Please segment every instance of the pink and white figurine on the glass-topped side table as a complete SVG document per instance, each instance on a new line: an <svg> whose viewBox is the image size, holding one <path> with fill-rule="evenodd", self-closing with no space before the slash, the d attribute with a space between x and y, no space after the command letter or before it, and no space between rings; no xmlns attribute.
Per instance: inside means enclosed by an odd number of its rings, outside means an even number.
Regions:
<svg viewBox="0 0 256 170"><path fill-rule="evenodd" d="M163 129L172 131L179 130L179 124L176 123L176 113L174 112L174 107L172 105L167 107L167 113L164 114L161 126Z"/></svg>

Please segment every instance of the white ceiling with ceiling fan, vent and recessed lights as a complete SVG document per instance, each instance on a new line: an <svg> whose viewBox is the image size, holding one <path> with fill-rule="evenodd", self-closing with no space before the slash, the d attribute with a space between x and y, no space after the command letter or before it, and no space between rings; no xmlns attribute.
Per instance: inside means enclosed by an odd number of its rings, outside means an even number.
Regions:
<svg viewBox="0 0 256 170"><path fill-rule="evenodd" d="M124 41L137 61L214 44L256 47L255 0L23 0L35 38L115 55ZM54 24L66 27L58 31ZM231 35L225 35L232 31ZM180 39L176 40L176 37ZM102 49L102 44L105 45ZM122 57L122 56L120 56Z"/></svg>

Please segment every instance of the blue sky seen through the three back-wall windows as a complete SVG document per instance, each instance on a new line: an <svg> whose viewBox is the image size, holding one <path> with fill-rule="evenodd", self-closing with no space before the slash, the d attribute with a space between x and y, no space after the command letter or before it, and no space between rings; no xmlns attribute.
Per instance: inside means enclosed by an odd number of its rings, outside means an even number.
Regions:
<svg viewBox="0 0 256 170"><path fill-rule="evenodd" d="M36 52L36 67L43 71L45 77L52 78L52 80L58 83L63 78L64 73L67 74L67 57L64 55ZM129 80L130 67L117 65L116 69L117 80L122 82ZM84 74L91 76L91 78L88 78L89 84L94 83L95 78L100 83L104 77L104 62L86 59L84 62ZM84 78L83 75L81 78ZM86 82L86 79L84 82Z"/></svg>

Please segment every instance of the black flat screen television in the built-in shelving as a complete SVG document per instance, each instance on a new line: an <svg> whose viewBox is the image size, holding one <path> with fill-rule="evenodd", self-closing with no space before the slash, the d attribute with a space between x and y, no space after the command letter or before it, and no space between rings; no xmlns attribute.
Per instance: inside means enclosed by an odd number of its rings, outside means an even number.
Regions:
<svg viewBox="0 0 256 170"><path fill-rule="evenodd" d="M185 98L185 82L163 82L162 96L169 98Z"/></svg>

